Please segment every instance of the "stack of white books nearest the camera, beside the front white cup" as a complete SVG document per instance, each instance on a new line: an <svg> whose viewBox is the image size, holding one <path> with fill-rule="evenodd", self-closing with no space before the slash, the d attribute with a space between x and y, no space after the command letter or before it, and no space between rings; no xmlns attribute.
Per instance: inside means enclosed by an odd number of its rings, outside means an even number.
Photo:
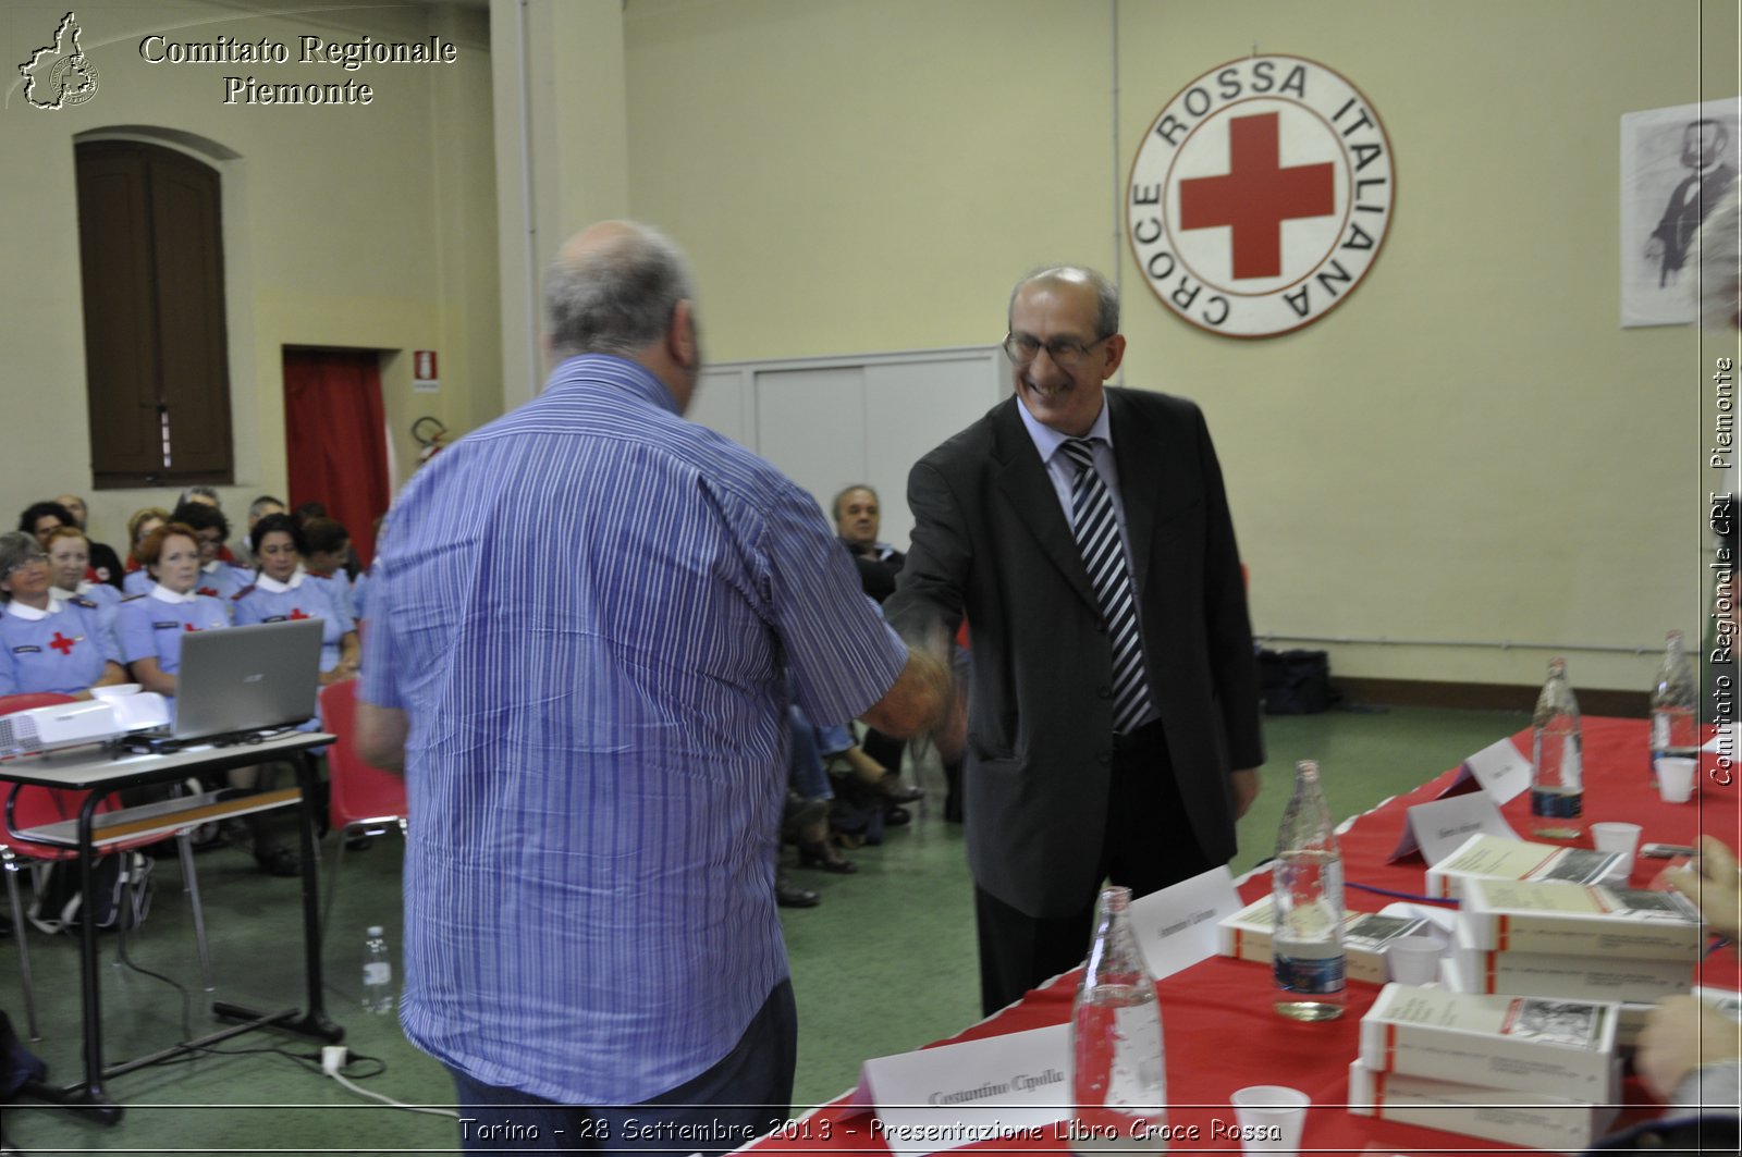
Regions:
<svg viewBox="0 0 1742 1157"><path fill-rule="evenodd" d="M1387 984L1361 1019L1348 1112L1577 1154L1615 1119L1620 1007Z"/></svg>

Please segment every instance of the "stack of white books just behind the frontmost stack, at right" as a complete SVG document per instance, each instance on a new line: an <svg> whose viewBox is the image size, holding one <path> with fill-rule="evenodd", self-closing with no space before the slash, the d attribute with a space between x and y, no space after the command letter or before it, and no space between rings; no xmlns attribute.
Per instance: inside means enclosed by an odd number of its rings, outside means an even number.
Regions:
<svg viewBox="0 0 1742 1157"><path fill-rule="evenodd" d="M1700 911L1676 892L1561 880L1463 878L1448 986L1653 1004L1691 991Z"/></svg>

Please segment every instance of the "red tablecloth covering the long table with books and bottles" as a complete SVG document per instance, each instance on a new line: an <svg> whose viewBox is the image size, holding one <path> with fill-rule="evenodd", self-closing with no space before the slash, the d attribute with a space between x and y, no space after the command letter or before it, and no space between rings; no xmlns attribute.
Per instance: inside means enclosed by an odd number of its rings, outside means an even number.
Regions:
<svg viewBox="0 0 1742 1157"><path fill-rule="evenodd" d="M1585 737L1585 819L1627 819L1644 828L1641 842L1693 843L1698 833L1711 833L1732 847L1739 842L1742 817L1742 784L1723 784L1725 777L1716 760L1707 754L1700 768L1698 795L1691 803L1664 803L1650 786L1646 756L1646 723L1641 720L1587 718ZM1512 737L1521 751L1529 753L1529 732ZM1334 774L1334 768L1329 772ZM1366 883L1397 892L1420 894L1425 864L1420 856L1390 864L1387 857L1397 847L1404 824L1404 809L1434 800L1456 775L1456 768L1416 788L1409 795L1387 800L1362 815L1341 836L1345 876L1350 883ZM1286 789L1277 777L1277 788ZM1502 809L1512 826L1529 831L1528 793ZM1526 838L1529 838L1526 835ZM1589 842L1585 842L1589 847ZM1639 859L1632 882L1648 883L1664 861ZM1240 887L1247 901L1270 889L1270 878L1256 873ZM1376 896L1348 889L1350 908L1376 911L1390 903ZM1712 957L1702 967L1702 981L1725 988L1739 986L1739 971L1730 953ZM988 1021L981 1021L949 1040L976 1040L1002 1033L1057 1025L1070 1019L1071 998L1077 990L1077 972L1061 976L1052 984L1031 991L1019 1004ZM1212 957L1158 984L1167 1042L1169 1124L1197 1124L1198 1143L1174 1141L1171 1152L1239 1152L1239 1141L1212 1138L1212 1126L1232 1126L1228 1094L1249 1084L1287 1084L1312 1096L1301 1150L1336 1154L1395 1154L1395 1152L1462 1152L1507 1148L1488 1141L1463 1138L1437 1129L1401 1126L1369 1117L1354 1117L1345 1110L1348 1096L1348 1063L1357 1054L1357 1032L1362 1014L1378 995L1378 986L1352 981L1348 1011L1338 1021L1300 1025L1277 1016L1270 1007L1270 971L1247 960ZM1637 1082L1627 1082L1631 1108L1624 1122L1653 1115ZM827 1133L827 1140L820 1134ZM775 1140L758 1143L758 1152L789 1150L869 1150L888 1152L888 1147L869 1129L869 1115L852 1108L845 1098L822 1106L805 1140ZM1178 1134L1176 1134L1178 1136ZM1061 1141L986 1141L969 1147L976 1152L1066 1152Z"/></svg>

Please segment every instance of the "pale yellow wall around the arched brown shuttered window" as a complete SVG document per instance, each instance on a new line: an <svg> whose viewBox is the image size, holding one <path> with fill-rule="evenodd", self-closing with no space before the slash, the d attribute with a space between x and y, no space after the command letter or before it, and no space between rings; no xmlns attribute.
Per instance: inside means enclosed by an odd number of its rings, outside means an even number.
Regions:
<svg viewBox="0 0 1742 1157"><path fill-rule="evenodd" d="M63 491L87 495L92 531L115 545L127 512L172 493L92 491L85 434L84 331L73 138L150 125L192 134L233 155L225 174L225 244L232 347L235 486L240 521L261 491L284 495L282 347L436 348L441 394L411 394L406 357L383 368L383 399L401 476L415 448L404 430L434 413L458 430L470 397L500 399L495 265L495 171L484 12L453 5L340 12L219 2L80 3L82 47L99 89L57 112L3 89L0 159L0 364L10 439L0 458L0 518ZM66 7L10 3L0 12L7 61L47 44ZM219 37L284 42L287 64L152 64L145 37L213 44ZM455 64L300 64L301 35L327 42L453 40ZM155 52L157 49L153 49ZM368 106L225 105L226 75L272 84L355 80ZM395 483L399 479L394 479Z"/></svg>

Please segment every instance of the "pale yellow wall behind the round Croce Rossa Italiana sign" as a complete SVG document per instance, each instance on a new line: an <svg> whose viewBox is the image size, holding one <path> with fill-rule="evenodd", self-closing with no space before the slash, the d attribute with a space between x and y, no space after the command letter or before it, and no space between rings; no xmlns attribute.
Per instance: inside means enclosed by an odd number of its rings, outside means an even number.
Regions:
<svg viewBox="0 0 1742 1157"><path fill-rule="evenodd" d="M1230 342L1153 300L1117 204L1157 112L1254 45L1366 92L1399 199L1343 307ZM1125 380L1205 408L1261 633L1700 629L1700 338L1618 328L1617 152L1625 112L1737 94L1735 5L632 0L625 51L631 202L695 256L711 355L993 342L1021 270L1118 253ZM1545 664L1331 652L1415 680ZM1655 657L1570 666L1641 688Z"/></svg>

